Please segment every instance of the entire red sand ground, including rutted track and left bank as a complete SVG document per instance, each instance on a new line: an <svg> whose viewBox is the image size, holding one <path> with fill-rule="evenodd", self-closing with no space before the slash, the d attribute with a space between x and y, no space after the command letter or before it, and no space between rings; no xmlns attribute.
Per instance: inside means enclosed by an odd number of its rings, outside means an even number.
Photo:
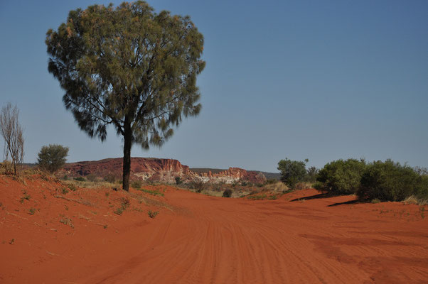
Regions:
<svg viewBox="0 0 428 284"><path fill-rule="evenodd" d="M428 210L417 205L291 201L315 190L247 200L62 188L0 176L0 283L428 281ZM121 216L119 197L131 200Z"/></svg>

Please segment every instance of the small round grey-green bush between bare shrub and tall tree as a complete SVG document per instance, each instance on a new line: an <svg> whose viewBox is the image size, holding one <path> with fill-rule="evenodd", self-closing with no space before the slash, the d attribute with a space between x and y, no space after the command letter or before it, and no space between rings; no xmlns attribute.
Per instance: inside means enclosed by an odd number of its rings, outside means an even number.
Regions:
<svg viewBox="0 0 428 284"><path fill-rule="evenodd" d="M67 156L68 147L58 144L49 144L49 146L43 146L41 148L41 151L38 153L37 163L41 169L47 170L50 173L55 173L60 168L63 168Z"/></svg>

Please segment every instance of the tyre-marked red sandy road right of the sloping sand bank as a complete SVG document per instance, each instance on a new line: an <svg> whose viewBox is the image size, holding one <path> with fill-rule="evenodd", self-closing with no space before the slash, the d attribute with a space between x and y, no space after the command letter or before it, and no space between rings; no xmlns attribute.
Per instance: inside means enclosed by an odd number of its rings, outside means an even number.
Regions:
<svg viewBox="0 0 428 284"><path fill-rule="evenodd" d="M401 204L382 215L378 204L328 207L349 197L250 201L179 190L166 200L181 212L129 229L122 255L112 263L106 253L75 283L428 281L427 219L391 216Z"/></svg>

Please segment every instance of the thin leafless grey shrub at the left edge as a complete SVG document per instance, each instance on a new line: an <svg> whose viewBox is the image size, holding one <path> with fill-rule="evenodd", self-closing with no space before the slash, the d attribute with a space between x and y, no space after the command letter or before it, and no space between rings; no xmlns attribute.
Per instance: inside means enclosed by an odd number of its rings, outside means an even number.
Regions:
<svg viewBox="0 0 428 284"><path fill-rule="evenodd" d="M6 104L0 112L0 132L4 138L4 158L8 160L9 155L14 167L14 175L23 163L23 130L18 121L19 110L11 103Z"/></svg>

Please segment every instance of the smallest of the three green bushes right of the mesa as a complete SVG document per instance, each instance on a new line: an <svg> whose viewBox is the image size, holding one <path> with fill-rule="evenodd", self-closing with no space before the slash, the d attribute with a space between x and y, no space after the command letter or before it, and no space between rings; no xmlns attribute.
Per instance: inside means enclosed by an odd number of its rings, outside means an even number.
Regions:
<svg viewBox="0 0 428 284"><path fill-rule="evenodd" d="M296 187L298 182L304 181L306 177L306 159L304 162L299 160L280 160L278 163L278 170L281 172L281 181L288 187Z"/></svg>

